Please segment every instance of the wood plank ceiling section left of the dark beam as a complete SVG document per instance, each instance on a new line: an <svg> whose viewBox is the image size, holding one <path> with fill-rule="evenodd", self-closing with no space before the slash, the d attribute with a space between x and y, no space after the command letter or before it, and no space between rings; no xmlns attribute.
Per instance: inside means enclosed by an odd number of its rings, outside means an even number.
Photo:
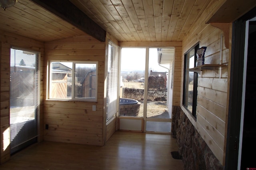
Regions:
<svg viewBox="0 0 256 170"><path fill-rule="evenodd" d="M0 10L0 33L11 32L42 42L84 35L84 32L30 0Z"/></svg>

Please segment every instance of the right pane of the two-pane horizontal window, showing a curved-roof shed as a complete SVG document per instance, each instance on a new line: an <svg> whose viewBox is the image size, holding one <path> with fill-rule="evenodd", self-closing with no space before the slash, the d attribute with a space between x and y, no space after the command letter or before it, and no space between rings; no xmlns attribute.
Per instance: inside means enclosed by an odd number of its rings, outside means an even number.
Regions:
<svg viewBox="0 0 256 170"><path fill-rule="evenodd" d="M75 64L75 98L96 98L97 76L96 64Z"/></svg>

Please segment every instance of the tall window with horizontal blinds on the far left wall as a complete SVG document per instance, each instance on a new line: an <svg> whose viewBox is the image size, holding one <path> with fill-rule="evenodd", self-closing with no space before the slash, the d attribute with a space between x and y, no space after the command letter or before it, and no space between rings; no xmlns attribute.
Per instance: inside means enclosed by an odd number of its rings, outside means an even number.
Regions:
<svg viewBox="0 0 256 170"><path fill-rule="evenodd" d="M11 152L36 142L40 105L39 53L10 50Z"/></svg>

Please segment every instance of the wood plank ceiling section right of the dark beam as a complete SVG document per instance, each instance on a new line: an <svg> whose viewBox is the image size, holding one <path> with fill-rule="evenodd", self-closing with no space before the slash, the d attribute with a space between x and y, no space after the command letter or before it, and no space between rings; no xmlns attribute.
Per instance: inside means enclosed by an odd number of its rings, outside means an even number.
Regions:
<svg viewBox="0 0 256 170"><path fill-rule="evenodd" d="M182 41L210 0L70 0L119 42Z"/></svg>

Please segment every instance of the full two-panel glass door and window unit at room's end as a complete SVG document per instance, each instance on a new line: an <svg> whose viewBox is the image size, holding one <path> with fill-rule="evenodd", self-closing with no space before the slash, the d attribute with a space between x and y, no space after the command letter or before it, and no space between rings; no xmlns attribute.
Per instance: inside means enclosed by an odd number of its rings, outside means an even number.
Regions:
<svg viewBox="0 0 256 170"><path fill-rule="evenodd" d="M120 129L170 132L173 60L174 48L122 48Z"/></svg>

